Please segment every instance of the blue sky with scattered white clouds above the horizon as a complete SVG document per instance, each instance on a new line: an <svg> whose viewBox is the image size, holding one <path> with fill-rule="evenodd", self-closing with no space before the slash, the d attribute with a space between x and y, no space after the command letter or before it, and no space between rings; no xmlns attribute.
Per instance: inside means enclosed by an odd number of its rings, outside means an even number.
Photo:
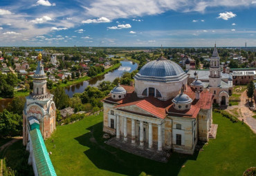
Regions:
<svg viewBox="0 0 256 176"><path fill-rule="evenodd" d="M0 46L256 46L256 0L8 0Z"/></svg>

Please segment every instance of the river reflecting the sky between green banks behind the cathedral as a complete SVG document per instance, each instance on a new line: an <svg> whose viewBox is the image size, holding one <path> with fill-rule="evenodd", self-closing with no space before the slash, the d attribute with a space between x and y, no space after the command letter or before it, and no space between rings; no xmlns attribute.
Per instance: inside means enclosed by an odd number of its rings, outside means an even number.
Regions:
<svg viewBox="0 0 256 176"><path fill-rule="evenodd" d="M73 86L69 86L65 88L65 92L68 97L73 97L75 93L82 93L87 86L97 87L102 81L113 81L116 77L121 77L124 72L132 72L138 68L137 63L133 63L132 61L120 61L122 66L120 66L116 70L112 70L105 75L101 75L99 77L94 77L89 81L83 81L79 84L75 84Z"/></svg>

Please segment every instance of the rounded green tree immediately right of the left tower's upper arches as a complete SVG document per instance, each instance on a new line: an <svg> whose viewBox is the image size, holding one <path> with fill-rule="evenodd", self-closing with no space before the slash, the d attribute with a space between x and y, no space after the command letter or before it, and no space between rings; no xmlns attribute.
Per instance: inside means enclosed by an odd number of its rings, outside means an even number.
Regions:
<svg viewBox="0 0 256 176"><path fill-rule="evenodd" d="M57 86L57 88L53 90L53 95L56 107L58 109L66 108L68 105L68 95L66 95L64 88Z"/></svg>

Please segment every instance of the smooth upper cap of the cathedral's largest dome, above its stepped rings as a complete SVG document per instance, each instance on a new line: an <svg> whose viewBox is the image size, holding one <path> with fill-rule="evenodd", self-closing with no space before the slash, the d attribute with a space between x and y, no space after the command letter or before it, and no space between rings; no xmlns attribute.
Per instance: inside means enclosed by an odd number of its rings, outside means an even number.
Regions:
<svg viewBox="0 0 256 176"><path fill-rule="evenodd" d="M183 74L181 66L167 59L158 59L146 63L138 72L149 77L168 77Z"/></svg>

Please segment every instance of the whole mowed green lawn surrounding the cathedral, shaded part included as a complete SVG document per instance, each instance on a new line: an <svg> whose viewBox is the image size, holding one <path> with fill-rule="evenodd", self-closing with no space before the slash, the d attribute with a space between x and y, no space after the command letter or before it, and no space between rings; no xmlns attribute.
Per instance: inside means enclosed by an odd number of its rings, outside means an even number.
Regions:
<svg viewBox="0 0 256 176"><path fill-rule="evenodd" d="M75 124L58 126L46 147L57 175L242 175L256 165L256 135L219 113L217 139L194 155L172 153L167 164L107 146L102 139L102 113Z"/></svg>

